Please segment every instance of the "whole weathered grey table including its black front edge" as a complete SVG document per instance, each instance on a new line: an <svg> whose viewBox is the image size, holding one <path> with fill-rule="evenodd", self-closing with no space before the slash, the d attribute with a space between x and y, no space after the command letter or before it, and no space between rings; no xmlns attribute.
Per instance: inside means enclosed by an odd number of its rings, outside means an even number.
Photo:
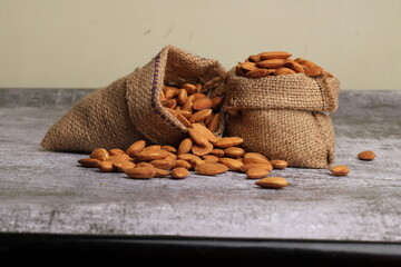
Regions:
<svg viewBox="0 0 401 267"><path fill-rule="evenodd" d="M89 91L0 90L0 257L8 263L20 249L41 264L109 256L401 263L401 91L342 91L335 165L350 175L273 170L291 182L282 190L236 172L133 180L78 167L84 155L43 150L49 127ZM358 160L362 150L378 157Z"/></svg>

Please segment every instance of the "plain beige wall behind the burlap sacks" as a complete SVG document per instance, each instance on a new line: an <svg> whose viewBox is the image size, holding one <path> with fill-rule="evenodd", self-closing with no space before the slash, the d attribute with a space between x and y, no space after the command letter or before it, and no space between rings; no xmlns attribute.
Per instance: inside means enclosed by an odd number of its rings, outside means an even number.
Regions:
<svg viewBox="0 0 401 267"><path fill-rule="evenodd" d="M400 0L0 0L0 87L104 87L166 44L227 69L284 50L342 89L401 89Z"/></svg>

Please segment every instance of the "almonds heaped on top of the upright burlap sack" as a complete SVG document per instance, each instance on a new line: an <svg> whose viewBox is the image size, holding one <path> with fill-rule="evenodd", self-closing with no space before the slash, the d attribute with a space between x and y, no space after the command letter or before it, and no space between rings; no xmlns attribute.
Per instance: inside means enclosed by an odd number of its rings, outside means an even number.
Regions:
<svg viewBox="0 0 401 267"><path fill-rule="evenodd" d="M303 59L291 59L292 53L284 51L261 52L246 58L245 62L238 62L235 68L237 76L247 78L262 78L266 76L295 75L303 72L310 77L325 75L333 77L316 63Z"/></svg>

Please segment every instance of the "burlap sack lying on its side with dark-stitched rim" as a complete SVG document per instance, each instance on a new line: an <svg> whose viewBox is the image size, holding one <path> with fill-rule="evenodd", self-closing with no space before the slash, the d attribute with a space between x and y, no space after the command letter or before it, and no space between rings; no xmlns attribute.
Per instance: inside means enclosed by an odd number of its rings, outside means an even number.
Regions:
<svg viewBox="0 0 401 267"><path fill-rule="evenodd" d="M167 46L143 68L79 100L49 129L41 145L74 152L127 149L139 139L175 146L185 138L186 127L159 101L165 82L199 82L216 95L225 76L216 60Z"/></svg>

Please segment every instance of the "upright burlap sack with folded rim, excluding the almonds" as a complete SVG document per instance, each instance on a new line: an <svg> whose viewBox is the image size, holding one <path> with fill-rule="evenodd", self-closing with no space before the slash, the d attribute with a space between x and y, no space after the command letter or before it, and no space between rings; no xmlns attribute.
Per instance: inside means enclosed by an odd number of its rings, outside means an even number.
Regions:
<svg viewBox="0 0 401 267"><path fill-rule="evenodd" d="M327 168L335 135L330 113L338 109L340 82L304 73L250 79L228 71L226 132L243 147L292 167Z"/></svg>

